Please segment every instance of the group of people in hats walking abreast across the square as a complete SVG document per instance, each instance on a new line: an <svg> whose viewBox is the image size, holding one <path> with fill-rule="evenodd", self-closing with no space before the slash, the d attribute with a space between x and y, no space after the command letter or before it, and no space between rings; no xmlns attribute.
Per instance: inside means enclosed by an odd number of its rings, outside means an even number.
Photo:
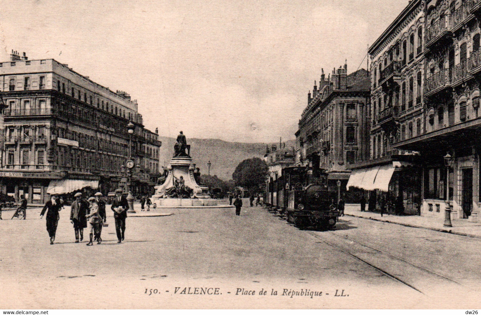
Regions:
<svg viewBox="0 0 481 315"><path fill-rule="evenodd" d="M50 244L55 240L55 233L60 218L59 212L63 208L63 201L58 198L58 194L52 193L51 199L45 204L40 213L43 218L46 214L47 231L49 232ZM89 228L89 242L87 246L93 245L93 241L101 244L102 226L107 222L105 213L105 202L102 200L102 193L96 192L94 197L82 199L82 193L77 192L75 201L72 202L70 210L70 222L74 227L75 242L78 243L84 239L84 228ZM117 243L121 243L125 239L125 219L127 218L128 202L122 196L122 189L115 190L115 199L112 202L112 211L114 212L115 231L117 234Z"/></svg>

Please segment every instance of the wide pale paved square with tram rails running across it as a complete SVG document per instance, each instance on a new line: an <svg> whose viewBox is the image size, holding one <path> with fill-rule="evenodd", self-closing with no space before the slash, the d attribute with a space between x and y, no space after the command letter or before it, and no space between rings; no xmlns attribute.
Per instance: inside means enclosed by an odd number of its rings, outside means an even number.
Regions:
<svg viewBox="0 0 481 315"><path fill-rule="evenodd" d="M345 216L335 231L319 232L261 207L244 207L241 216L231 208L162 209L173 215L127 218L121 244L109 217L103 243L87 247L85 239L74 243L69 211L61 212L54 245L38 210L0 221L1 308L437 308L456 301L464 308L481 280L480 239L361 218ZM222 294L179 294L184 287ZM235 295L237 288L256 292ZM290 298L283 289L323 295ZM336 296L342 290L346 296ZM446 299L453 290L459 294Z"/></svg>

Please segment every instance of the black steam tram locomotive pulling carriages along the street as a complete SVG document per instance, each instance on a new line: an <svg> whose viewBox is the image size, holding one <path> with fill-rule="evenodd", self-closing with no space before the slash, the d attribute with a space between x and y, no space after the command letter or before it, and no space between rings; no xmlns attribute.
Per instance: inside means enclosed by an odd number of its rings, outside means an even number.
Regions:
<svg viewBox="0 0 481 315"><path fill-rule="evenodd" d="M301 229L334 227L340 214L337 186L329 185L325 171L310 172L302 166L284 168L282 176L269 183L270 210Z"/></svg>

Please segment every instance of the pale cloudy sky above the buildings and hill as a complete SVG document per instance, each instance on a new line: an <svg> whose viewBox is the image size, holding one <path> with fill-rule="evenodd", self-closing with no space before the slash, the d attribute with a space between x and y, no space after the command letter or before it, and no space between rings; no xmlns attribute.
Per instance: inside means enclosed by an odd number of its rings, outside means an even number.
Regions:
<svg viewBox="0 0 481 315"><path fill-rule="evenodd" d="M321 68L366 68L368 45L407 4L0 0L0 61L17 50L67 63L129 93L161 136L277 142L295 138Z"/></svg>

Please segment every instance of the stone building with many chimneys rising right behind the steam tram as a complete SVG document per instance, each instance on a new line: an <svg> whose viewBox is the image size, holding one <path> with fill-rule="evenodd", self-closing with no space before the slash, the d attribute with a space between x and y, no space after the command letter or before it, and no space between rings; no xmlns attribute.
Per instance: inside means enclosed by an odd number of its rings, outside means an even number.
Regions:
<svg viewBox="0 0 481 315"><path fill-rule="evenodd" d="M314 82L299 121L296 165L309 166L314 177L324 169L345 189L351 173L347 166L369 157L369 108L366 70L347 75L345 64L327 78L322 70L319 88Z"/></svg>

